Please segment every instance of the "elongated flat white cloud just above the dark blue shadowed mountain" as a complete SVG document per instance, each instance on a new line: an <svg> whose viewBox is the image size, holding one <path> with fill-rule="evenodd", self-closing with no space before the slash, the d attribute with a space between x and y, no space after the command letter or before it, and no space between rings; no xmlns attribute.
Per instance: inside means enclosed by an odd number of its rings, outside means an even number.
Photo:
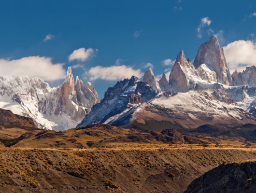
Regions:
<svg viewBox="0 0 256 193"><path fill-rule="evenodd" d="M140 69L133 69L132 67L122 66L111 66L102 67L96 66L85 72L85 75L90 81L102 79L106 81L118 81L125 78L130 78L132 75L142 78L143 73Z"/></svg>

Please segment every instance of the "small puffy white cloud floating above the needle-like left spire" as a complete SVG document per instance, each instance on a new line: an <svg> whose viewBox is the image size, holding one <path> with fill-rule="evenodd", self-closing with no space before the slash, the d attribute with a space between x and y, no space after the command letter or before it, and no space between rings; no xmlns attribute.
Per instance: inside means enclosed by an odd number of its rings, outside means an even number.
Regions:
<svg viewBox="0 0 256 193"><path fill-rule="evenodd" d="M92 48L88 48L85 50L85 48L79 48L69 55L69 61L79 60L85 62L89 57L94 56L95 51L98 52L98 49L94 50Z"/></svg>

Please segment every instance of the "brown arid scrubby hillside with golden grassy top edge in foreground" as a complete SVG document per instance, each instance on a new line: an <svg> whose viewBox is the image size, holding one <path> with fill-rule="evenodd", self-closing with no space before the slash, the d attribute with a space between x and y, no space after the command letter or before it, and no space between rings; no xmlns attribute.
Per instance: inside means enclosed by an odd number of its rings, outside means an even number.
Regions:
<svg viewBox="0 0 256 193"><path fill-rule="evenodd" d="M2 148L0 192L182 193L193 179L223 162L256 159L250 146L204 146Z"/></svg>

